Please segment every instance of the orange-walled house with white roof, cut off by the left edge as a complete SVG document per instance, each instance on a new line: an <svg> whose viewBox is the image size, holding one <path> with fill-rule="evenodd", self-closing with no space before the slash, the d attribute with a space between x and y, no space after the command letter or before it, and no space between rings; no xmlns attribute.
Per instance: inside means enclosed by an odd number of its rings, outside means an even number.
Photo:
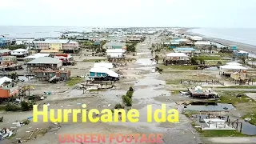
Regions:
<svg viewBox="0 0 256 144"><path fill-rule="evenodd" d="M18 94L18 86L12 79L3 77L0 78L0 102Z"/></svg>

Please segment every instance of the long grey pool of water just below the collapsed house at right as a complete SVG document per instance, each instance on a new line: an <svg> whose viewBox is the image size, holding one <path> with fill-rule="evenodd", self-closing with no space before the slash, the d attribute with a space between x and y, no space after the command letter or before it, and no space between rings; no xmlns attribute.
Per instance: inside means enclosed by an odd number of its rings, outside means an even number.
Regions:
<svg viewBox="0 0 256 144"><path fill-rule="evenodd" d="M205 111L218 111L218 110L233 110L234 106L232 104L226 104L226 103L217 103L217 106L212 105L189 105L184 108L184 110L205 110Z"/></svg>

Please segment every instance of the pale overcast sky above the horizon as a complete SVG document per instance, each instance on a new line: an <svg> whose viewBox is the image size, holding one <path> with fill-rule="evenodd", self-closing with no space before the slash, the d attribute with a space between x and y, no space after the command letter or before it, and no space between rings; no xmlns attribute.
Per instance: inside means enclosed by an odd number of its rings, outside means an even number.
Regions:
<svg viewBox="0 0 256 144"><path fill-rule="evenodd" d="M255 27L256 0L0 0L1 26Z"/></svg>

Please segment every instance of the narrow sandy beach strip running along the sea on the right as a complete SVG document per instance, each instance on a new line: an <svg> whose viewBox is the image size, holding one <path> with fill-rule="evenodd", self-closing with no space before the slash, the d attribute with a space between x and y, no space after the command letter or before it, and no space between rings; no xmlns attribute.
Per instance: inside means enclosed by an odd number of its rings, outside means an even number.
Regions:
<svg viewBox="0 0 256 144"><path fill-rule="evenodd" d="M186 34L198 35L202 38L205 38L206 41L218 42L218 43L222 43L223 45L226 45L226 46L234 45L234 46L238 47L238 50L245 50L245 51L249 52L250 54L256 54L256 51L255 51L256 46L254 46L254 45L249 45L249 44L242 43L242 42L234 42L234 41L230 41L230 40L226 40L226 39L222 39L222 38L206 37L205 35L192 33L192 32L188 32L188 31L186 31Z"/></svg>

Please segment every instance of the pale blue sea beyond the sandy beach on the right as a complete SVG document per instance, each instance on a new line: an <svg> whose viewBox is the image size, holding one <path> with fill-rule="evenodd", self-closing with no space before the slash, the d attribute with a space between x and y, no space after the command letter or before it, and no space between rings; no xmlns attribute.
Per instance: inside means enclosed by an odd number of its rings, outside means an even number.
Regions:
<svg viewBox="0 0 256 144"><path fill-rule="evenodd" d="M207 38L221 38L256 46L256 28L199 28L189 32L202 34Z"/></svg>

